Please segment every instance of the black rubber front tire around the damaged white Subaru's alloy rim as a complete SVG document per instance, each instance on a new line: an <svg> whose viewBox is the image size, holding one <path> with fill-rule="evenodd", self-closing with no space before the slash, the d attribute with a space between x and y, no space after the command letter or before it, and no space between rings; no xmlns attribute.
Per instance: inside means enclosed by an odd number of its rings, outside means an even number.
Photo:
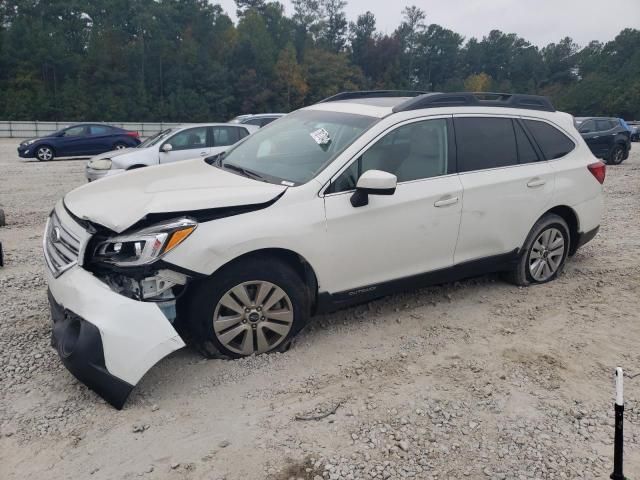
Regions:
<svg viewBox="0 0 640 480"><path fill-rule="evenodd" d="M213 314L220 298L233 287L248 281L265 281L280 287L293 307L293 326L273 351L284 351L305 327L310 316L309 295L296 271L278 260L246 259L224 267L196 287L189 298L188 327L195 346L207 357L242 358L224 347L213 330Z"/></svg>

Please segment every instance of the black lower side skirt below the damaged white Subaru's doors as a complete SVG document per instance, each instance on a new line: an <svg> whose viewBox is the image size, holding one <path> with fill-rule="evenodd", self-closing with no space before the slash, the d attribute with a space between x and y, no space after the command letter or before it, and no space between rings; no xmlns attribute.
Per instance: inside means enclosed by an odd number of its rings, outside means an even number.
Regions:
<svg viewBox="0 0 640 480"><path fill-rule="evenodd" d="M388 282L366 285L354 290L337 293L320 292L315 313L330 313L398 292L440 285L487 273L508 271L517 264L519 257L520 249L516 248L509 253L471 260L452 267Z"/></svg>

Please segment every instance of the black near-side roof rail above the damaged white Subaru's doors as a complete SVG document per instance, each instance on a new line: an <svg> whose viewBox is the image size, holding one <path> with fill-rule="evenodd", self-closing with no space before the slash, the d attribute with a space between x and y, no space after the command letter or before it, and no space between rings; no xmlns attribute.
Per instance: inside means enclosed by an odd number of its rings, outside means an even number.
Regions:
<svg viewBox="0 0 640 480"><path fill-rule="evenodd" d="M519 93L493 92L452 92L427 93L411 98L393 107L393 112L406 112L422 108L438 107L506 107L527 110L543 110L555 112L556 109L547 97L540 95L524 95Z"/></svg>

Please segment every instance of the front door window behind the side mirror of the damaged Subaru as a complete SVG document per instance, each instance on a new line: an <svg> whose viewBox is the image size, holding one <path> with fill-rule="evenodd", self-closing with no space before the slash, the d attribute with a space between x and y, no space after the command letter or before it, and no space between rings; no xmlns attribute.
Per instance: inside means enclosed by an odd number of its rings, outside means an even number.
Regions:
<svg viewBox="0 0 640 480"><path fill-rule="evenodd" d="M382 170L398 177L398 183L446 175L448 131L445 119L424 120L396 128L364 152L338 179L328 193L356 188L367 170Z"/></svg>

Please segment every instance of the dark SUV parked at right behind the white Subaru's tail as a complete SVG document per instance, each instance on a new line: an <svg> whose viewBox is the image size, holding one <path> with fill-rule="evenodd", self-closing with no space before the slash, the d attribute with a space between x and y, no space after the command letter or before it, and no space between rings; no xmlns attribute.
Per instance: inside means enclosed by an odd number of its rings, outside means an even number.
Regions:
<svg viewBox="0 0 640 480"><path fill-rule="evenodd" d="M576 117L576 128L593 154L610 165L629 157L631 132L620 118Z"/></svg>

